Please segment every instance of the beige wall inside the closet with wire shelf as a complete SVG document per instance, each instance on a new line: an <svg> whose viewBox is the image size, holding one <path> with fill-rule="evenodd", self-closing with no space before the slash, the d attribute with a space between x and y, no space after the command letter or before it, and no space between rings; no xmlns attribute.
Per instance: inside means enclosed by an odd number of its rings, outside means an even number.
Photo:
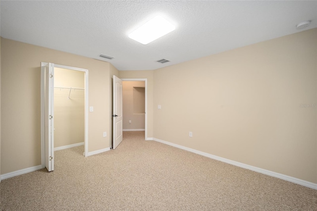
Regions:
<svg viewBox="0 0 317 211"><path fill-rule="evenodd" d="M54 87L85 88L85 72L54 68ZM84 142L85 90L54 89L54 147Z"/></svg>

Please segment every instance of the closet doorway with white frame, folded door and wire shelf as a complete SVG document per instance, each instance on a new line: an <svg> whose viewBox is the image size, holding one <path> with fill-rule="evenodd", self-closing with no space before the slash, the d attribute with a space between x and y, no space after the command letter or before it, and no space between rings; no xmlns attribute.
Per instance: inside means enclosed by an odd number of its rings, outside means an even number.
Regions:
<svg viewBox="0 0 317 211"><path fill-rule="evenodd" d="M54 150L84 144L88 155L88 70L41 62L42 166L54 170Z"/></svg>

